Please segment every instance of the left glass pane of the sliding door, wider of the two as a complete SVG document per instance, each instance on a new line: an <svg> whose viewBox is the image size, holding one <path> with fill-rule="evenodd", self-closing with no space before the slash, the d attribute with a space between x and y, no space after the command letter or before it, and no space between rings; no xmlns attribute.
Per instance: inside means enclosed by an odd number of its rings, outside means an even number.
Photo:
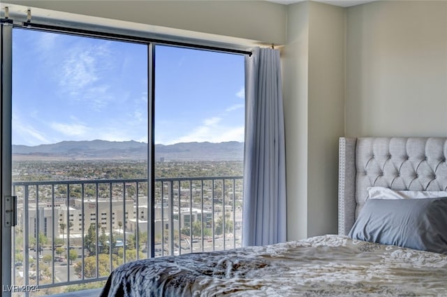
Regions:
<svg viewBox="0 0 447 297"><path fill-rule="evenodd" d="M149 201L148 45L28 29L12 37L17 287L6 291L101 287L113 268L147 256L147 220L128 242L135 205Z"/></svg>

